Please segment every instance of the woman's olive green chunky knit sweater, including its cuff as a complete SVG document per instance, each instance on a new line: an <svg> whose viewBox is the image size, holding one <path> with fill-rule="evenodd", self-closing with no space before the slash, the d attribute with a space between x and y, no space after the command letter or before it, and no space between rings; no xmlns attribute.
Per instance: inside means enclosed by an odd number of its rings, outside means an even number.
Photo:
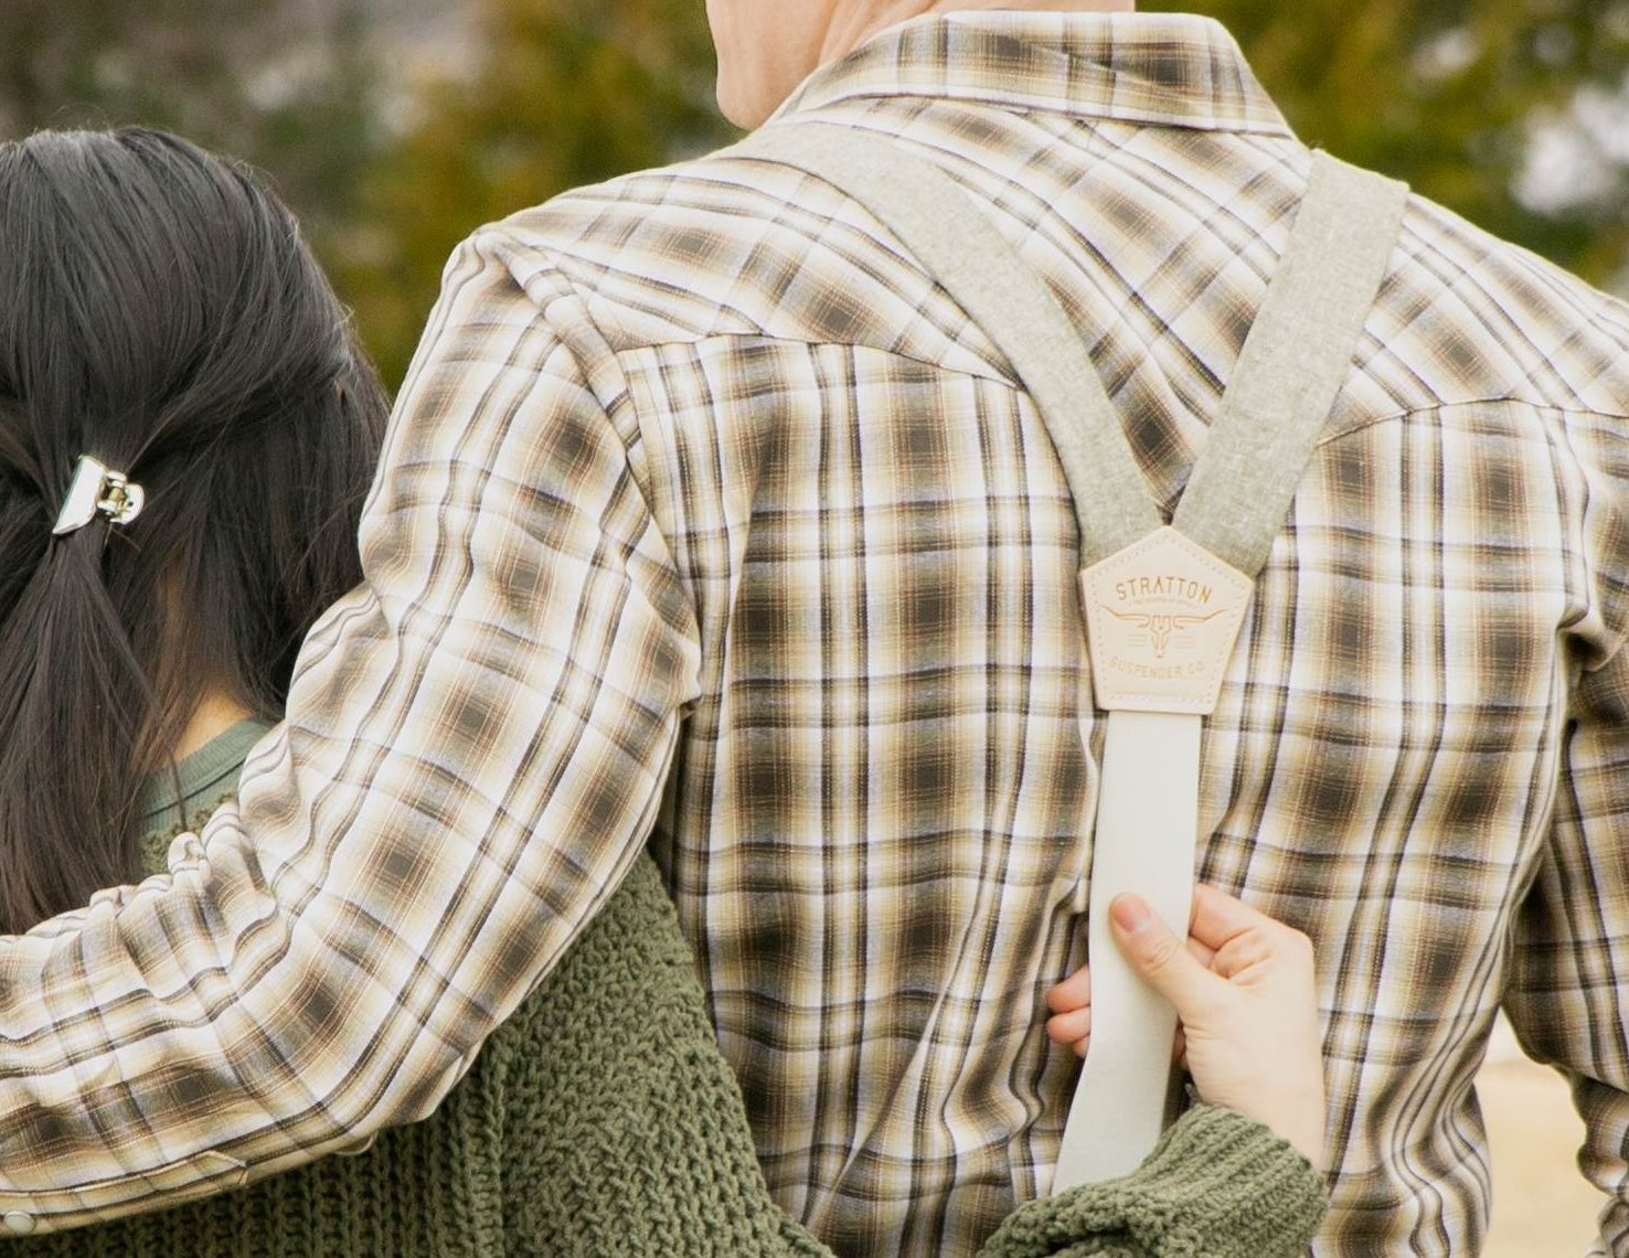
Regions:
<svg viewBox="0 0 1629 1258"><path fill-rule="evenodd" d="M261 727L182 761L143 844L231 794ZM1227 1110L1186 1115L1132 1177L1016 1211L989 1258L1295 1258L1323 1212L1305 1159ZM137 1258L691 1258L826 1250L769 1198L740 1089L648 859L424 1123L249 1188L0 1247Z"/></svg>

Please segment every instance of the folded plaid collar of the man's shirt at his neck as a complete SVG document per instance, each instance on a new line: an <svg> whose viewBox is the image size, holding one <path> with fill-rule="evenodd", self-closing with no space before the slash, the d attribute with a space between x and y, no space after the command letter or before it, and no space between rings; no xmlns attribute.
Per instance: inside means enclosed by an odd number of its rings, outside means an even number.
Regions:
<svg viewBox="0 0 1629 1258"><path fill-rule="evenodd" d="M775 117L867 96L1290 135L1233 36L1188 13L977 10L915 18L816 70Z"/></svg>

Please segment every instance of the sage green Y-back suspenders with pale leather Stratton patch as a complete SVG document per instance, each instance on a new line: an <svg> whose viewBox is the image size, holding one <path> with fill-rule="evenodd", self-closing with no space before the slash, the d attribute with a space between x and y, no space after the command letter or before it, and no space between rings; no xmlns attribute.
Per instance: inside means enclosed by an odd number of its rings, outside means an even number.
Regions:
<svg viewBox="0 0 1629 1258"><path fill-rule="evenodd" d="M1313 155L1284 259L1165 526L1080 332L969 192L854 127L772 124L727 153L800 168L865 205L1007 355L1057 450L1080 521L1095 702L1109 717L1090 891L1091 1049L1052 1191L1124 1175L1165 1121L1176 1014L1119 955L1108 904L1137 891L1173 927L1188 921L1201 722L1350 368L1407 189Z"/></svg>

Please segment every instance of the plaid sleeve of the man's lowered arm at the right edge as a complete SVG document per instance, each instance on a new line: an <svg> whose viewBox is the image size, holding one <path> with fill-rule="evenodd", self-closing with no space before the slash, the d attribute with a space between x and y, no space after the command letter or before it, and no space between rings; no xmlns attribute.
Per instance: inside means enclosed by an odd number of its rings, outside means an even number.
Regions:
<svg viewBox="0 0 1629 1258"><path fill-rule="evenodd" d="M1613 497L1600 494L1595 608L1577 626L1611 650L1579 660L1549 842L1505 986L1518 1040L1569 1080L1585 1123L1579 1165L1606 1194L1592 1255L1629 1253L1629 523Z"/></svg>

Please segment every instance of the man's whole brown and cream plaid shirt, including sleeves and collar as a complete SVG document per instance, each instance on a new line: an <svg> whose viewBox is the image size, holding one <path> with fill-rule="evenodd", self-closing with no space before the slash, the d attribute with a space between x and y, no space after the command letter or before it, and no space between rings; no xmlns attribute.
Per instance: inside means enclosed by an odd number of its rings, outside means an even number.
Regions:
<svg viewBox="0 0 1629 1258"><path fill-rule="evenodd" d="M1168 510L1308 169L1227 34L919 20L805 116L990 204ZM1474 1251L1500 1004L1629 1253L1626 416L1629 310L1416 199L1204 741L1202 877L1319 950L1319 1253ZM647 838L787 1209L950 1255L1044 1191L1103 732L1075 518L885 230L741 158L482 228L362 541L241 812L0 952L0 1211L425 1113Z"/></svg>

